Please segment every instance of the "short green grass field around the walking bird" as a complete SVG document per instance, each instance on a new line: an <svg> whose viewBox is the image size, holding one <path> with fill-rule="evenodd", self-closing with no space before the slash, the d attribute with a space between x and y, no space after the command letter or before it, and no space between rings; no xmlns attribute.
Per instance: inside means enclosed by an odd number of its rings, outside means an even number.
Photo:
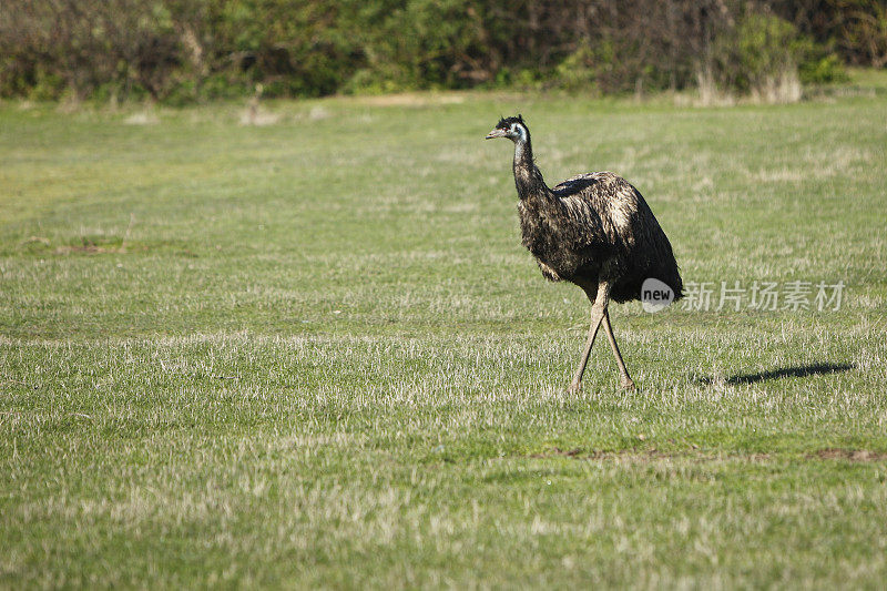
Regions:
<svg viewBox="0 0 887 591"><path fill-rule="evenodd" d="M887 101L0 104L0 587L879 589ZM708 310L590 306L549 184L645 195ZM721 282L846 287L715 309ZM815 292L815 288L814 288ZM783 294L784 295L784 294ZM813 298L813 295L810 295Z"/></svg>

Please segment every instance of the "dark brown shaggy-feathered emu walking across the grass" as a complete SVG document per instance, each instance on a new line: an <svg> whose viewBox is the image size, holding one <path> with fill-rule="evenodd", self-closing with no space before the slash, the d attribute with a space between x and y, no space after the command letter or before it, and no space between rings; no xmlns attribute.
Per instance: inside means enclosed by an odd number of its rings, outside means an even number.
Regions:
<svg viewBox="0 0 887 591"><path fill-rule="evenodd" d="M549 281L581 287L591 300L591 327L570 393L582 389L582 375L603 325L619 365L621 386L634 383L619 353L610 324L610 302L641 299L641 286L655 278L671 288L674 299L683 283L669 238L641 193L611 172L573 176L549 188L533 161L530 130L521 115L501 119L487 140L514 142L514 184L522 244Z"/></svg>

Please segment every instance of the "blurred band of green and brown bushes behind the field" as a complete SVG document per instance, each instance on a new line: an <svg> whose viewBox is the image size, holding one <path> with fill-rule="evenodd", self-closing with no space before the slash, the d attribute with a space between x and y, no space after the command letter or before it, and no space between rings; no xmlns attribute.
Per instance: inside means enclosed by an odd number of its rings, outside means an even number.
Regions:
<svg viewBox="0 0 887 591"><path fill-rule="evenodd" d="M887 63L880 0L6 0L0 95L758 93ZM786 91L787 89L787 91ZM793 90L795 89L795 90Z"/></svg>

